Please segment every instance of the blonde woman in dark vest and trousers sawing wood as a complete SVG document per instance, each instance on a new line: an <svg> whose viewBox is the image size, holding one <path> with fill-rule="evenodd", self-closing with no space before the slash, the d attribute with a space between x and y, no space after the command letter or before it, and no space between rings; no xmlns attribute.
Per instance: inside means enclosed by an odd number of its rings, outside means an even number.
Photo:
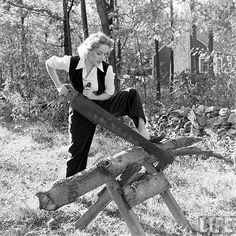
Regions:
<svg viewBox="0 0 236 236"><path fill-rule="evenodd" d="M114 95L114 73L112 66L105 63L112 46L113 40L105 34L101 32L91 34L78 47L79 56L52 56L46 61L47 71L59 94L66 94L68 90L60 82L56 70L65 70L69 73L72 86L78 92L116 117L128 115L133 120L137 132L150 139L145 128L146 119L137 91L131 89ZM91 84L90 87L86 87L88 83ZM71 159L67 162L66 177L86 168L95 128L94 123L70 108Z"/></svg>

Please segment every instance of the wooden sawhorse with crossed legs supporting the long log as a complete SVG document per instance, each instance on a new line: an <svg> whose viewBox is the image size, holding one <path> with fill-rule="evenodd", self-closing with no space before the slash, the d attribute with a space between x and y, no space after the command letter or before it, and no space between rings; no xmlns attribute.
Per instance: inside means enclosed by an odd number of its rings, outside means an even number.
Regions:
<svg viewBox="0 0 236 236"><path fill-rule="evenodd" d="M152 164L145 165L146 174L138 175L138 166L128 166L118 181L112 175L107 178L106 188L100 192L98 200L75 223L76 228L83 230L113 200L126 222L131 235L145 235L132 207L160 194L177 223L184 228L191 228L183 212L172 196L170 184L163 175L157 172ZM141 179L141 180L140 180ZM130 185L132 185L132 188Z"/></svg>

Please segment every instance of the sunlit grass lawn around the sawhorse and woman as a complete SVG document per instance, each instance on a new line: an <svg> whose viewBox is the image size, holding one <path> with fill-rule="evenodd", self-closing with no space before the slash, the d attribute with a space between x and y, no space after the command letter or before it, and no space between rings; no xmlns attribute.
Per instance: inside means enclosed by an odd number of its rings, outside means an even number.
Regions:
<svg viewBox="0 0 236 236"><path fill-rule="evenodd" d="M211 135L202 147L228 158L236 157L235 141ZM97 198L97 190L54 212L38 209L35 193L64 178L68 134L41 123L0 124L0 235L129 235L117 207L111 203L82 232L75 221ZM129 147L97 132L88 166ZM171 193L190 224L202 215L236 216L236 167L214 158L177 158L165 170ZM147 235L184 235L159 196L134 207Z"/></svg>

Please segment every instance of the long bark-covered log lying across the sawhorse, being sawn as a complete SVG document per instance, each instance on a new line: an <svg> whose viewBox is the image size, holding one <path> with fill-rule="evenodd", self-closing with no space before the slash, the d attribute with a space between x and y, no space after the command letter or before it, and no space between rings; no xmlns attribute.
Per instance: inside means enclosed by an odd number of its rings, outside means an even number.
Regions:
<svg viewBox="0 0 236 236"><path fill-rule="evenodd" d="M176 156L179 155L179 153L175 153L177 150L173 149L183 147L184 145L191 145L198 141L199 139L196 138L181 138L158 144L158 146L164 151L172 150L173 156ZM148 155L142 148L130 148L114 155L110 159L99 162L90 169L56 182L52 188L46 192L41 191L36 193L36 196L39 198L39 207L40 209L49 211L56 210L105 184L107 182L108 173L111 173L113 177L117 177L125 171L128 165L143 165L144 163L152 164L155 162L156 158Z"/></svg>

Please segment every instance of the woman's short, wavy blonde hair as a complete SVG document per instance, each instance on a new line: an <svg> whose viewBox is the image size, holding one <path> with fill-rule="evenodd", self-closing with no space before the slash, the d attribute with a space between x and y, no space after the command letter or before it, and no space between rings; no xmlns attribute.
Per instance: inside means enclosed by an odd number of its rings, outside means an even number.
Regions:
<svg viewBox="0 0 236 236"><path fill-rule="evenodd" d="M85 58L89 51L92 51L95 48L99 48L102 44L107 45L112 50L114 41L102 32L91 34L78 47L78 54L81 58Z"/></svg>

